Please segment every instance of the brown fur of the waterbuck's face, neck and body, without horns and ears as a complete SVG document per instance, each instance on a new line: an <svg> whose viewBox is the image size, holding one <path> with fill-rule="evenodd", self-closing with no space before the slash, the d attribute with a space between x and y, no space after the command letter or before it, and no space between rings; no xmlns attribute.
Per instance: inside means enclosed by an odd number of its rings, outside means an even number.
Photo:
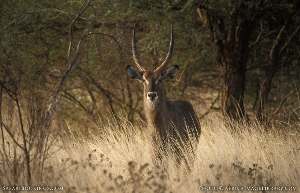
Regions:
<svg viewBox="0 0 300 193"><path fill-rule="evenodd" d="M179 99L167 99L161 81L155 84L161 76L161 73L158 71L150 72L147 70L143 73L143 78L145 79L143 82L144 112L148 133L152 139L155 155L159 159L162 157L161 151L166 152L171 148L179 162L183 158L182 149L190 147L190 150L194 152L196 147L192 146L193 142L191 140L198 142L201 133L200 123L190 102ZM150 102L147 99L148 92L157 92L158 99L155 102ZM190 133L190 136L188 133ZM178 142L176 143L175 141ZM168 145L171 145L171 147ZM179 145L182 146L178 147Z"/></svg>

